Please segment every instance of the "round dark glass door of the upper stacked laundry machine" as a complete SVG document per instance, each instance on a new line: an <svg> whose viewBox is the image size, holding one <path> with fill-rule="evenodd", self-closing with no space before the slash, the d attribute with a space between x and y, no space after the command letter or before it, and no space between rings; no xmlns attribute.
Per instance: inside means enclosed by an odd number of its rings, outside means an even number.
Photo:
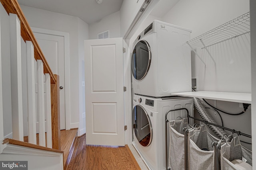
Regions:
<svg viewBox="0 0 256 170"><path fill-rule="evenodd" d="M151 51L150 46L144 40L139 41L132 52L132 74L137 80L142 80L150 67Z"/></svg>

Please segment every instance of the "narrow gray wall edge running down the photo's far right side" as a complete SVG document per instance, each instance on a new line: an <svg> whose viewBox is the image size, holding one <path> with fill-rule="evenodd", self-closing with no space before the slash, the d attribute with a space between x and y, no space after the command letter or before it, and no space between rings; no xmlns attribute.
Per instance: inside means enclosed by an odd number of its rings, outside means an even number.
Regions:
<svg viewBox="0 0 256 170"><path fill-rule="evenodd" d="M256 1L250 0L250 20L251 20L251 67L252 67L252 113L256 113ZM252 122L256 121L256 114L252 114ZM252 164L256 170L256 124L252 123Z"/></svg>

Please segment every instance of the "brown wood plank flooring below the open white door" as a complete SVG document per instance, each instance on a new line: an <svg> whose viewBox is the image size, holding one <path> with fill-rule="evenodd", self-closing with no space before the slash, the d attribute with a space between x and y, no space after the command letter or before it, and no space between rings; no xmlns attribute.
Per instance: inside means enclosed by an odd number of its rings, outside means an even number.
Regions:
<svg viewBox="0 0 256 170"><path fill-rule="evenodd" d="M64 170L141 170L129 147L86 145L86 135L78 129L61 130ZM28 137L24 137L28 142ZM39 137L37 134L37 145Z"/></svg>

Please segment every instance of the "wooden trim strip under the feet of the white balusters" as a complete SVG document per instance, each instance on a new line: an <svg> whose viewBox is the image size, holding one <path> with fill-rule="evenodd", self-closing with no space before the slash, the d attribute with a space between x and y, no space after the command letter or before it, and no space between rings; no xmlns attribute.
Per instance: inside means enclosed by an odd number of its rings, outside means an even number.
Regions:
<svg viewBox="0 0 256 170"><path fill-rule="evenodd" d="M12 145L18 145L18 146L21 146L21 147L28 147L28 148L32 148L32 149L45 150L45 151L49 151L49 152L59 152L59 153L62 153L62 154L64 153L62 150L46 148L46 147L42 147L40 145L34 145L32 143L17 141L17 140L8 139L8 138L4 139L2 144L12 144Z"/></svg>

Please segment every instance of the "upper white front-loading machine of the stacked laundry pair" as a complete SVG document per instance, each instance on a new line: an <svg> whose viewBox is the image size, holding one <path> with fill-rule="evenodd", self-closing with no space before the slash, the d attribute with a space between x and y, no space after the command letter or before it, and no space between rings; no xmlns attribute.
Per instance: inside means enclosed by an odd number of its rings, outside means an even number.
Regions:
<svg viewBox="0 0 256 170"><path fill-rule="evenodd" d="M191 91L191 31L154 20L133 43L132 87L135 94L171 96Z"/></svg>

